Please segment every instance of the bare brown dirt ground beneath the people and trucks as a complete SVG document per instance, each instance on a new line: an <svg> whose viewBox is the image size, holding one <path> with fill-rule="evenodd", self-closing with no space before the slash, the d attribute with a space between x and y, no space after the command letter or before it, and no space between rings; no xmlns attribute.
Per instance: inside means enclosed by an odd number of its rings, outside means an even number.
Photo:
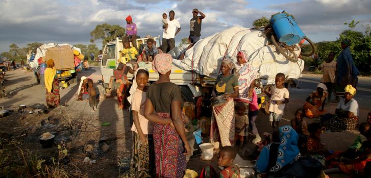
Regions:
<svg viewBox="0 0 371 178"><path fill-rule="evenodd" d="M94 82L102 79L96 67L80 72L78 78L82 75L93 79ZM60 161L70 174L81 172L88 177L118 177L129 169L132 152L129 112L118 109L115 97L101 100L98 110L93 112L87 101L76 100L75 94L79 85L75 83L60 91L62 106L50 110L47 114L18 113L18 106L22 104L27 105L28 108L36 108L38 104L45 105L44 86L36 83L33 72L21 69L8 71L6 79L8 96L0 98L0 106L14 110L14 112L8 117L0 118L0 136L3 143L17 141L13 144L15 146L11 147L11 149L15 148L13 151L30 150L33 154L40 156L39 159L46 160L45 163L50 163L52 158L58 157L59 149L56 145L52 148L42 148L38 137L44 132L51 132L56 135L57 144L61 144L64 140L63 144L68 155ZM305 98L312 90L313 88L289 89L290 103L285 107L284 119L280 125L289 124L289 120L294 117L295 110L302 107ZM325 109L333 113L336 106L337 104L329 103ZM369 106L360 106L359 122L365 121ZM306 118L308 123L315 120ZM101 126L102 122L109 122L110 125ZM272 131L268 116L263 112L258 115L257 126L260 135ZM328 149L345 150L358 134L358 131L324 133L321 139ZM207 136L204 138L205 142L208 142L207 138ZM86 151L85 146L88 144L93 145L93 149ZM107 151L101 149L103 144L109 145ZM248 144L246 147L253 149L255 145ZM11 149L9 149L10 152L12 152ZM85 157L96 160L96 163L84 163ZM251 162L253 160L248 159L245 149L239 151L239 159L240 165L253 165ZM213 165L216 168L216 156L211 161L202 161L200 157L194 157L187 165L189 169L197 172L200 172L204 165Z"/></svg>

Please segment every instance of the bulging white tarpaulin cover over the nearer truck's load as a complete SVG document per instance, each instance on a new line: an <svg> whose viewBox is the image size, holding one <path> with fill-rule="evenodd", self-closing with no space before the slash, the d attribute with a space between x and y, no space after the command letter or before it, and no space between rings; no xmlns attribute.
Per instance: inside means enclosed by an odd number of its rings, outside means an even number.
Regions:
<svg viewBox="0 0 371 178"><path fill-rule="evenodd" d="M221 60L231 57L237 66L237 53L246 50L248 63L255 72L264 79L263 83L273 84L277 73L282 72L288 78L298 79L304 69L304 61L287 60L276 51L274 45L269 45L268 40L262 36L261 29L246 29L233 27L206 37L188 49L183 60L173 60L173 64L184 69L194 70L199 74L216 78ZM300 50L295 54L300 55ZM192 67L193 61L193 67Z"/></svg>

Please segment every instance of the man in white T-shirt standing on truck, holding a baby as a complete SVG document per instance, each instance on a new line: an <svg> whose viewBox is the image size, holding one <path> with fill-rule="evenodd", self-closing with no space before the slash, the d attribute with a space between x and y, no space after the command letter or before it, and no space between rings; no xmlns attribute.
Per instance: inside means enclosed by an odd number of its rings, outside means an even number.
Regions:
<svg viewBox="0 0 371 178"><path fill-rule="evenodd" d="M162 33L162 51L167 53L169 50L175 47L175 36L180 32L180 23L175 19L175 12L171 10L169 12L170 19L167 20L167 24L164 25L164 29L167 30Z"/></svg>

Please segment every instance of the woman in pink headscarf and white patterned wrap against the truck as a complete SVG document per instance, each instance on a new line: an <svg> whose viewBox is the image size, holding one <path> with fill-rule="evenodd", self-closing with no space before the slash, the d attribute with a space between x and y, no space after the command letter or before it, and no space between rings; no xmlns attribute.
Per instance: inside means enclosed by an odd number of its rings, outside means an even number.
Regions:
<svg viewBox="0 0 371 178"><path fill-rule="evenodd" d="M245 50L241 50L237 53L237 64L239 66L237 71L239 95L238 98L234 98L234 100L249 104L249 128L253 135L255 135L255 139L252 140L252 142L258 143L261 141L261 138L255 124L255 120L259 113L258 97L254 90L255 71L253 66L248 64L246 56L248 56L248 53Z"/></svg>

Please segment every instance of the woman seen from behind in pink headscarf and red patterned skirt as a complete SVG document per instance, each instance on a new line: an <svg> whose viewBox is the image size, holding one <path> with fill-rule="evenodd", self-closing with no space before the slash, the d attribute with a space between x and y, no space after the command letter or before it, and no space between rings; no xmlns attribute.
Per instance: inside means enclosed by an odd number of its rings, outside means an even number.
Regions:
<svg viewBox="0 0 371 178"><path fill-rule="evenodd" d="M152 68L159 79L147 89L144 108L145 118L154 122L156 177L183 177L186 155L191 153L181 117L181 91L170 82L171 64L169 54L156 55Z"/></svg>

